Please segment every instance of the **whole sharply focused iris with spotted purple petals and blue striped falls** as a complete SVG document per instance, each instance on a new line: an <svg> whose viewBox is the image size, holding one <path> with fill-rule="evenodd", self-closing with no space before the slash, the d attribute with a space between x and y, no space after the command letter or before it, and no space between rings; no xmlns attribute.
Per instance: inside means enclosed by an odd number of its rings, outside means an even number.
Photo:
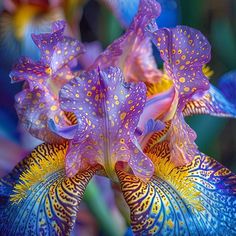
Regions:
<svg viewBox="0 0 236 236"><path fill-rule="evenodd" d="M33 37L41 60L20 61L11 76L26 80L20 119L46 143L0 182L3 235L69 235L95 174L120 186L135 235L236 234L236 177L197 149L184 121L196 113L235 117L235 104L202 71L207 39L186 26L158 29L159 14L156 1L141 0L126 33L66 82L60 71L82 53L79 42L62 36L62 22ZM43 109L31 110L41 101ZM44 126L32 129L36 122Z"/></svg>

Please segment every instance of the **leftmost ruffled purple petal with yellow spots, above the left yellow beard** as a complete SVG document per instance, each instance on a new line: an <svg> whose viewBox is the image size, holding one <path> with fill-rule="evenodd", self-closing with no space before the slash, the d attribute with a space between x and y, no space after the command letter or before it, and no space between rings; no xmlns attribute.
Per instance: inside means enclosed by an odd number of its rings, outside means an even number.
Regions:
<svg viewBox="0 0 236 236"><path fill-rule="evenodd" d="M65 23L57 21L52 33L33 35L41 52L40 61L22 58L10 74L13 82L26 81L24 90L16 95L17 114L23 127L47 142L63 141L50 131L50 119L62 126L70 124L59 107L58 93L74 77L69 66L83 52L79 41L63 36L64 28Z"/></svg>

